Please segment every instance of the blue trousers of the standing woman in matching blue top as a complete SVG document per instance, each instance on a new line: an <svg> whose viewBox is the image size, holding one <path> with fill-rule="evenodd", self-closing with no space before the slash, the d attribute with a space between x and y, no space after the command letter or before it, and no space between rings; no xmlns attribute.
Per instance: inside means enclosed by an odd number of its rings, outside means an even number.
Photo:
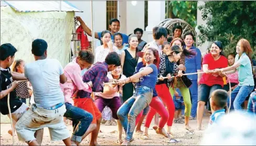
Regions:
<svg viewBox="0 0 256 146"><path fill-rule="evenodd" d="M198 100L198 85L197 80L191 80L192 85L189 87L190 97L191 97L191 117L196 117L196 110L197 110L197 100Z"/></svg>

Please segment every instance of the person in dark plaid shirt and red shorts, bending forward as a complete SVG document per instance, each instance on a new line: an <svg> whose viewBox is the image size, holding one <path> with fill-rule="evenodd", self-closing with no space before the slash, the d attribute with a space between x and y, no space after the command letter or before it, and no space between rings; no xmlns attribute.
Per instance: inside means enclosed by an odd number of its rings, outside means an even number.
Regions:
<svg viewBox="0 0 256 146"><path fill-rule="evenodd" d="M82 76L83 82L92 82L92 92L103 92L103 83L112 82L106 76L108 72L113 71L117 66L121 65L120 57L116 52L110 52L104 62L95 63L84 75ZM93 103L91 93L79 90L73 95L74 106L82 108L92 114L93 124L97 124L97 128L91 133L91 140L89 145L99 145L97 142L98 133L101 123L101 112Z"/></svg>

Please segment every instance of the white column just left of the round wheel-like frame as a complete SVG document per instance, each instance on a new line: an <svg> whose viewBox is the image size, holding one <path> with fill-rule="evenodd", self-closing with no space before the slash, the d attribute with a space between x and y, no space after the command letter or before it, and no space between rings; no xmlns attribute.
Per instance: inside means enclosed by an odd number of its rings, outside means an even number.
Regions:
<svg viewBox="0 0 256 146"><path fill-rule="evenodd" d="M148 1L147 6L147 42L153 40L152 29L165 19L165 1Z"/></svg>

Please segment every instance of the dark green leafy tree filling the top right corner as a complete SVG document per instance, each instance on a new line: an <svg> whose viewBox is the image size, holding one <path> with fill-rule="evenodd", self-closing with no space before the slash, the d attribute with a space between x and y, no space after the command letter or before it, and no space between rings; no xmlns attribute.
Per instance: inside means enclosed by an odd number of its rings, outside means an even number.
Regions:
<svg viewBox="0 0 256 146"><path fill-rule="evenodd" d="M206 26L198 26L199 39L219 40L225 53L234 52L239 39L247 39L256 57L256 2L255 1L206 1L198 7Z"/></svg>

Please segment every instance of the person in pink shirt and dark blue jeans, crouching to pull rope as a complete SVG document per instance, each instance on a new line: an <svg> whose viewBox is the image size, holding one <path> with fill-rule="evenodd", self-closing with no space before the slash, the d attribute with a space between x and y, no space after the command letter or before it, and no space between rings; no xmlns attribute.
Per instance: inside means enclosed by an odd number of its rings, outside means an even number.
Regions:
<svg viewBox="0 0 256 146"><path fill-rule="evenodd" d="M68 63L64 68L67 82L60 84L65 96L66 113L64 117L72 120L73 133L72 144L79 145L86 136L96 128L96 124L91 123L93 116L88 111L75 107L72 99L73 93L79 89L91 93L91 82L83 83L81 70L88 68L94 62L94 55L91 51L81 50L77 58ZM91 85L90 85L91 84Z"/></svg>

